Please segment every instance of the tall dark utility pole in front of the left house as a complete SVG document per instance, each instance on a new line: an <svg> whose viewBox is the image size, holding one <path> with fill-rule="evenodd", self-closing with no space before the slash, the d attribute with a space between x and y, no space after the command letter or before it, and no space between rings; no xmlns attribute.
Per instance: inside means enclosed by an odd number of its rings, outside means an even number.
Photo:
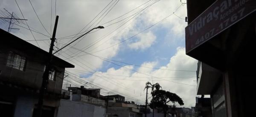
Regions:
<svg viewBox="0 0 256 117"><path fill-rule="evenodd" d="M43 75L43 81L42 81L42 86L39 92L39 99L38 99L38 117L42 116L42 109L43 109L43 103L44 103L44 95L45 92L47 91L47 84L48 84L48 79L49 79L49 71L52 70L52 51L53 51L53 46L54 46L54 42L55 42L55 34L56 34L56 29L57 29L57 25L58 25L58 16L56 16L56 20L55 20L55 25L54 25L54 29L53 29L53 33L52 33L52 38L51 38L51 45L50 45L50 49L49 49L49 54L48 54L48 58L47 58L47 64L44 70L44 75Z"/></svg>

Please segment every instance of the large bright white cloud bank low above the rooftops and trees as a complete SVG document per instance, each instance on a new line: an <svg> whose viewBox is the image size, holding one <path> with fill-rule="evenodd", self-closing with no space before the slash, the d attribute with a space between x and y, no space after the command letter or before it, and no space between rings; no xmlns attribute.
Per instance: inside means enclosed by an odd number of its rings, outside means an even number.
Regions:
<svg viewBox="0 0 256 117"><path fill-rule="evenodd" d="M196 76L195 72L184 72L184 71L170 71L170 70L196 70L197 61L194 58L186 56L185 48L177 47L177 52L174 56L170 58L170 61L165 66L160 68L169 70L152 70L145 67L154 67L157 62L145 62L134 72L133 66L124 66L119 69L110 68L107 72L96 72L93 76L86 78L84 80L93 81L94 83L103 85L113 91L121 92L120 95L125 95L129 97L134 97L140 101L145 100L145 82L154 81L158 82L163 87L164 90L174 92L179 95L185 106L195 106L195 96L196 96L196 82L193 78L177 78L177 77L190 77ZM140 72L140 73L139 73ZM141 74L143 73L143 74ZM122 76L119 76L122 75ZM101 78L99 78L101 76ZM129 76L129 77L123 77ZM151 77L152 76L152 77ZM108 78L105 78L108 77ZM143 77L143 78L142 78ZM144 78L148 77L148 78ZM167 78L168 77L168 78ZM122 79L122 80L120 80ZM163 79L165 81L163 81ZM140 80L140 81L129 81L129 80ZM167 80L167 81L166 81ZM172 82L174 81L174 82ZM183 84L177 84L183 83ZM189 85L184 85L189 84ZM140 93L142 94L140 96ZM126 98L127 99L127 98ZM127 99L129 100L129 99Z"/></svg>

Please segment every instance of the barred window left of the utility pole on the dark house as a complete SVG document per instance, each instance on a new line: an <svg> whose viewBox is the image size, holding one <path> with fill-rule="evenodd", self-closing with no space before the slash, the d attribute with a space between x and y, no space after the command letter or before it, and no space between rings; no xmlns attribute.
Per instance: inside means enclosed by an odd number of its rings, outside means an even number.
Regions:
<svg viewBox="0 0 256 117"><path fill-rule="evenodd" d="M25 64L26 64L26 57L17 55L12 51L9 52L6 66L12 67L20 71L24 71Z"/></svg>

